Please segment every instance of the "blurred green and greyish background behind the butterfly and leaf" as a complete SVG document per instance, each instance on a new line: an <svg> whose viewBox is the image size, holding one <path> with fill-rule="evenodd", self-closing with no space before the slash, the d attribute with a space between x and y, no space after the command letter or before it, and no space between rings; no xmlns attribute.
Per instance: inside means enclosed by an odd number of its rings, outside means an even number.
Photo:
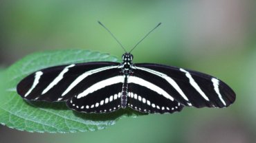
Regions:
<svg viewBox="0 0 256 143"><path fill-rule="evenodd" d="M0 67L44 50L88 49L134 63L162 63L205 72L232 87L226 109L125 118L86 133L27 133L0 126L0 142L256 142L256 1L0 1ZM4 82L4 81L1 81Z"/></svg>

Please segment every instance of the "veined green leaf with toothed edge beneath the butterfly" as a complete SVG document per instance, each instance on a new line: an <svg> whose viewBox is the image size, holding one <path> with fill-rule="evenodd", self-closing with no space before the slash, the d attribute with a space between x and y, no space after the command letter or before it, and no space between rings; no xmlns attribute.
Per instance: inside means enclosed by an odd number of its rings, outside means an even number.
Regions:
<svg viewBox="0 0 256 143"><path fill-rule="evenodd" d="M114 56L88 50L61 50L31 54L21 59L0 75L5 81L0 92L0 123L10 128L30 132L66 133L96 131L113 125L122 117L137 114L131 110L114 113L78 113L66 107L65 102L27 102L16 91L19 81L39 69L68 63L89 61L118 61ZM2 82L3 83L3 82Z"/></svg>

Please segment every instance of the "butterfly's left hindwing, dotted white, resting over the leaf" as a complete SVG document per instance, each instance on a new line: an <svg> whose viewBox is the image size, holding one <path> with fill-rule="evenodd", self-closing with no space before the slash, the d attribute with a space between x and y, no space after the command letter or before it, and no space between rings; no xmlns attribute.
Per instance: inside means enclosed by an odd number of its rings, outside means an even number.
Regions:
<svg viewBox="0 0 256 143"><path fill-rule="evenodd" d="M84 95L80 93L67 100L67 106L75 111L84 113L109 113L120 109L122 83L107 85L99 89L97 89L99 85L97 84L95 83L95 85L91 86L95 87L95 91L89 87L86 90L91 90L91 93L87 92L88 94ZM84 93L86 93L86 90Z"/></svg>

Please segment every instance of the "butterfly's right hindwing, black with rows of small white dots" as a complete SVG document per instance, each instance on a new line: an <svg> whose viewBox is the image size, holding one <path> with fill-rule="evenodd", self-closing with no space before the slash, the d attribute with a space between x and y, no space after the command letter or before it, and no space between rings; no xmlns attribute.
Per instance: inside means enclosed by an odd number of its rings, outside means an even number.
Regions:
<svg viewBox="0 0 256 143"><path fill-rule="evenodd" d="M131 79L131 76L129 78ZM136 82L129 80L128 107L142 113L174 113L183 109L183 105L176 100L165 98L165 96L147 86L147 82L145 85L138 85Z"/></svg>

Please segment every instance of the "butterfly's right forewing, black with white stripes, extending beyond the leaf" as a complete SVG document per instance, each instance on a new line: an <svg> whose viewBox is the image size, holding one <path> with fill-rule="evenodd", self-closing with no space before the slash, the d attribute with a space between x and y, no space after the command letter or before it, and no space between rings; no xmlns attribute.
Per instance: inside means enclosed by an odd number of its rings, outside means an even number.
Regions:
<svg viewBox="0 0 256 143"><path fill-rule="evenodd" d="M228 107L235 102L235 92L221 80L188 69L158 64L134 64L133 76L154 83L152 91L159 87L166 99L172 98L190 107ZM147 86L147 85L146 85ZM163 93L156 100L163 101ZM155 100L155 101L156 101Z"/></svg>

